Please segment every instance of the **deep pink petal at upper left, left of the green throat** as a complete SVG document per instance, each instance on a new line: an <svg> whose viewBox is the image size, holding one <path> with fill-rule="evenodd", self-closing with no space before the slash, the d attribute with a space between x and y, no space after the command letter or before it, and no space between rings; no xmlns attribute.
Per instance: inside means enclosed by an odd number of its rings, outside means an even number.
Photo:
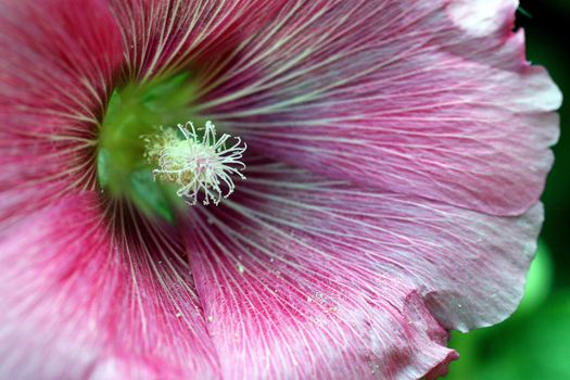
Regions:
<svg viewBox="0 0 570 380"><path fill-rule="evenodd" d="M0 60L2 229L94 188L93 140L121 36L100 0L2 1Z"/></svg>

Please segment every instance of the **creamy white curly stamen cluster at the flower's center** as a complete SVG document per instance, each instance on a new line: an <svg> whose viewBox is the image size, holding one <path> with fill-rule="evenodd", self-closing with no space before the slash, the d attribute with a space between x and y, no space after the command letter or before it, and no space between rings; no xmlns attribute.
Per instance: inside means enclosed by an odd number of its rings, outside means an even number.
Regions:
<svg viewBox="0 0 570 380"><path fill-rule="evenodd" d="M227 148L231 136L224 134L217 139L216 127L210 121L203 128L197 129L188 122L178 124L178 129L183 139L175 129L162 127L161 134L143 137L144 155L150 163L159 165L153 170L154 177L179 185L178 197L185 198L190 205L197 204L200 192L203 192L204 204L217 205L236 189L232 175L245 179L241 174L245 165L240 160L248 145L240 147L241 139L235 137L233 145ZM197 130L204 131L201 139Z"/></svg>

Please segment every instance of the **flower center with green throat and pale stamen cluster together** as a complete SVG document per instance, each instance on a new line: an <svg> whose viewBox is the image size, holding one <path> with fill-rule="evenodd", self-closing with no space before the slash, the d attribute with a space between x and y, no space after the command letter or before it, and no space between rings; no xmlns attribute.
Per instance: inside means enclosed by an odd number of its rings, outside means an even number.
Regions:
<svg viewBox="0 0 570 380"><path fill-rule="evenodd" d="M98 137L98 178L105 197L126 199L168 221L183 201L217 204L233 191L232 176L243 178L239 160L245 147L236 139L227 148L230 136L216 138L214 125L193 111L198 88L189 77L115 89ZM178 125L190 119L205 127Z"/></svg>

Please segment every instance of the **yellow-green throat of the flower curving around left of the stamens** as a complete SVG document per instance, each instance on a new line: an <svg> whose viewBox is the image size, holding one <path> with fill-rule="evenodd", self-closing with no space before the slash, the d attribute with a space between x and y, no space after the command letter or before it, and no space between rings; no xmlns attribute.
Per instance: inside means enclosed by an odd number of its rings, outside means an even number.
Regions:
<svg viewBox="0 0 570 380"><path fill-rule="evenodd" d="M98 141L98 177L103 192L128 199L147 215L168 221L174 221L174 212L183 202L175 187L154 180L141 136L155 134L160 126L200 121L189 105L197 90L189 77L185 73L115 89Z"/></svg>

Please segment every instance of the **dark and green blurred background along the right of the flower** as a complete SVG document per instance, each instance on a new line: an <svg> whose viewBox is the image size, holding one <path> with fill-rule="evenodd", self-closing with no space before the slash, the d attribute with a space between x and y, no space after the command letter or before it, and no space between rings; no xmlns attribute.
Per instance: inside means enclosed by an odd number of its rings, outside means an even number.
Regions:
<svg viewBox="0 0 570 380"><path fill-rule="evenodd" d="M546 66L570 97L570 0L521 1L521 8L517 24L527 34L529 61ZM543 197L546 220L524 300L501 325L453 334L451 345L461 357L446 379L570 379L570 101L560 116L556 163Z"/></svg>

